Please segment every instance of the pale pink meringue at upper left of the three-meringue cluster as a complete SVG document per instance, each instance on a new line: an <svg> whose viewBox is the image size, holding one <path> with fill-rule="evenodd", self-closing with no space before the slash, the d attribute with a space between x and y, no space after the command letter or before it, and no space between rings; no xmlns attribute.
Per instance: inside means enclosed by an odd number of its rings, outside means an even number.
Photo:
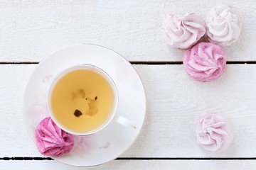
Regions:
<svg viewBox="0 0 256 170"><path fill-rule="evenodd" d="M171 13L164 19L162 28L171 47L186 49L206 33L206 22L194 13Z"/></svg>

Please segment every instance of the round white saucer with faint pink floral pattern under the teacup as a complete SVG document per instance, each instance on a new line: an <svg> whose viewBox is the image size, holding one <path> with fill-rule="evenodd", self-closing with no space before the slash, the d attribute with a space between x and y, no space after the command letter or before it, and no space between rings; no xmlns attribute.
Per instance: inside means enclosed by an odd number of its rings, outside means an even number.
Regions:
<svg viewBox="0 0 256 170"><path fill-rule="evenodd" d="M117 158L136 140L146 113L146 96L139 75L132 65L116 52L98 45L74 45L54 52L38 64L26 86L23 118L29 135L35 141L35 130L43 118L50 116L46 95L50 81L61 70L75 64L92 64L112 77L119 94L117 115L134 123L135 130L112 121L95 135L75 136L69 154L53 159L73 166L95 166Z"/></svg>

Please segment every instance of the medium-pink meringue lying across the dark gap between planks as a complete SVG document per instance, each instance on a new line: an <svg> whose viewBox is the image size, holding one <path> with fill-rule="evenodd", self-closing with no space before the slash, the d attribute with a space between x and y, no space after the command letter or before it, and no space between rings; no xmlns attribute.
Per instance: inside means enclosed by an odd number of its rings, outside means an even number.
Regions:
<svg viewBox="0 0 256 170"><path fill-rule="evenodd" d="M226 57L219 45L200 42L186 50L183 65L193 79L213 81L225 71Z"/></svg>

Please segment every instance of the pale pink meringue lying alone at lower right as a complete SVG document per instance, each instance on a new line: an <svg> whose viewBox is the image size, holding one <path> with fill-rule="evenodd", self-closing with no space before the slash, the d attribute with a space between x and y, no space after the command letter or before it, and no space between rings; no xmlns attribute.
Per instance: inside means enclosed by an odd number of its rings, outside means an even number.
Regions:
<svg viewBox="0 0 256 170"><path fill-rule="evenodd" d="M198 143L208 151L224 151L233 141L233 131L225 118L216 113L201 115L195 123Z"/></svg>

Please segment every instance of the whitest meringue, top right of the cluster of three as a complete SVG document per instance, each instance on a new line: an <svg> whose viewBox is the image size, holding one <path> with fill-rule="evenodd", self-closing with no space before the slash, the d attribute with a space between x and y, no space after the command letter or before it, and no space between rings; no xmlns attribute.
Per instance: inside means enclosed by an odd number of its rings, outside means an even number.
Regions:
<svg viewBox="0 0 256 170"><path fill-rule="evenodd" d="M208 40L228 46L238 40L242 28L242 16L238 8L220 5L210 9L207 19Z"/></svg>

